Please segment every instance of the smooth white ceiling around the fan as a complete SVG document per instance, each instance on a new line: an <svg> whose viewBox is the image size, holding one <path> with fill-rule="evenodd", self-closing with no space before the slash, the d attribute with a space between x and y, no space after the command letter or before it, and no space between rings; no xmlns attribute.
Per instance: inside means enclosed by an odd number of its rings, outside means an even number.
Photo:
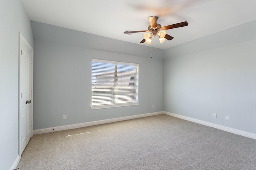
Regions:
<svg viewBox="0 0 256 170"><path fill-rule="evenodd" d="M174 39L151 45L167 49L242 23L256 20L256 0L22 0L30 20L140 44L148 16L162 26L183 21L188 26L169 29Z"/></svg>

